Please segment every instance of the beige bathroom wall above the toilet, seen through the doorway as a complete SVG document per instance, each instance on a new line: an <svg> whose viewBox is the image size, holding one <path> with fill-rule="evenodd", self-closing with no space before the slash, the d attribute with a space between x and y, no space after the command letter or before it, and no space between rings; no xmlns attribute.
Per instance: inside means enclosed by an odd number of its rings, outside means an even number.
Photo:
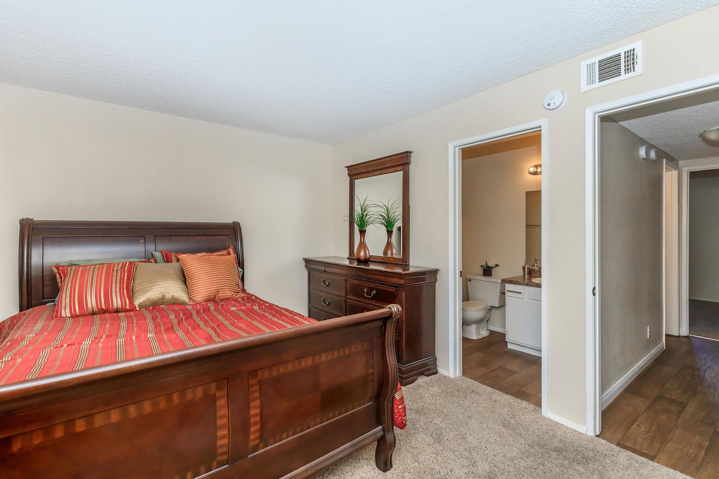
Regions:
<svg viewBox="0 0 719 479"><path fill-rule="evenodd" d="M462 270L482 274L496 261L493 276L522 274L525 255L525 197L541 188L527 168L541 162L541 138L533 146L462 161ZM410 175L411 177L411 175ZM464 298L467 283L463 281Z"/></svg>

